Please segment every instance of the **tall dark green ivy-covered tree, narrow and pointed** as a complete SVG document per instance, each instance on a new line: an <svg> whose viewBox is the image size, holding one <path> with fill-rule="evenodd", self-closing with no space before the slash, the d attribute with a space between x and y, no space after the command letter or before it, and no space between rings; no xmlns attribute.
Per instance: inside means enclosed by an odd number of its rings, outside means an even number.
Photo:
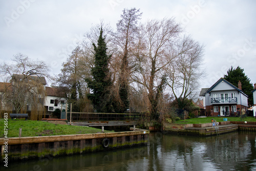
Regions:
<svg viewBox="0 0 256 171"><path fill-rule="evenodd" d="M110 56L106 54L106 43L102 36L102 28L100 29L100 35L98 38L98 46L94 46L95 61L92 68L92 78L86 79L88 87L93 93L88 94L88 98L92 101L94 109L97 112L113 112L111 86L112 81L109 72L109 60Z"/></svg>

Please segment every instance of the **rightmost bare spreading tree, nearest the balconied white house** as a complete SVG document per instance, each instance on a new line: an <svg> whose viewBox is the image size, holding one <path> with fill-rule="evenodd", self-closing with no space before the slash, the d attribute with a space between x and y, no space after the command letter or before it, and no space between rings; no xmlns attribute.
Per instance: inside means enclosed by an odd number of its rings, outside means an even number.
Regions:
<svg viewBox="0 0 256 171"><path fill-rule="evenodd" d="M177 42L176 51L178 55L166 67L167 85L182 104L184 99L193 99L198 93L198 82L204 76L201 69L203 46L184 36Z"/></svg>

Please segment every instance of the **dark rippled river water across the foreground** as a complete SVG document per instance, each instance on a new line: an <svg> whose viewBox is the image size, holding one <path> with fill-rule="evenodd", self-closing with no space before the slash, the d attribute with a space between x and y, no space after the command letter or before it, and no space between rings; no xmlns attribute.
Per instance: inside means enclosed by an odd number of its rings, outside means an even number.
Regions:
<svg viewBox="0 0 256 171"><path fill-rule="evenodd" d="M1 170L256 170L256 133L214 137L150 133L144 146L9 162Z"/></svg>

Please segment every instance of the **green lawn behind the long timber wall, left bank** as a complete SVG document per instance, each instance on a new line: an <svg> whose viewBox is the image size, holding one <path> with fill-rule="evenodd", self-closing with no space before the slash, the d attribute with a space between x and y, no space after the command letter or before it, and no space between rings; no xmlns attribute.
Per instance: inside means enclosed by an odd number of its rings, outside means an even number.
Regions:
<svg viewBox="0 0 256 171"><path fill-rule="evenodd" d="M22 128L22 137L92 134L101 132L101 129L86 126L60 125L32 120L8 120L8 137L18 137L19 128ZM0 120L0 138L4 138L4 120ZM111 132L111 131L105 131Z"/></svg>

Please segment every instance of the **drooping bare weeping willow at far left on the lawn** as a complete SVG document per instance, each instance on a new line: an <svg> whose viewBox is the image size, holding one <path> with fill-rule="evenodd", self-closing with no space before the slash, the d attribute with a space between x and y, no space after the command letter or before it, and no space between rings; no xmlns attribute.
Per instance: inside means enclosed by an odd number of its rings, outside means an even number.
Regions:
<svg viewBox="0 0 256 171"><path fill-rule="evenodd" d="M14 113L31 112L31 120L41 119L45 114L45 77L50 78L48 66L22 54L17 54L12 60L12 63L0 66L0 72L6 76L5 83L8 84L1 93L2 104L11 106Z"/></svg>

